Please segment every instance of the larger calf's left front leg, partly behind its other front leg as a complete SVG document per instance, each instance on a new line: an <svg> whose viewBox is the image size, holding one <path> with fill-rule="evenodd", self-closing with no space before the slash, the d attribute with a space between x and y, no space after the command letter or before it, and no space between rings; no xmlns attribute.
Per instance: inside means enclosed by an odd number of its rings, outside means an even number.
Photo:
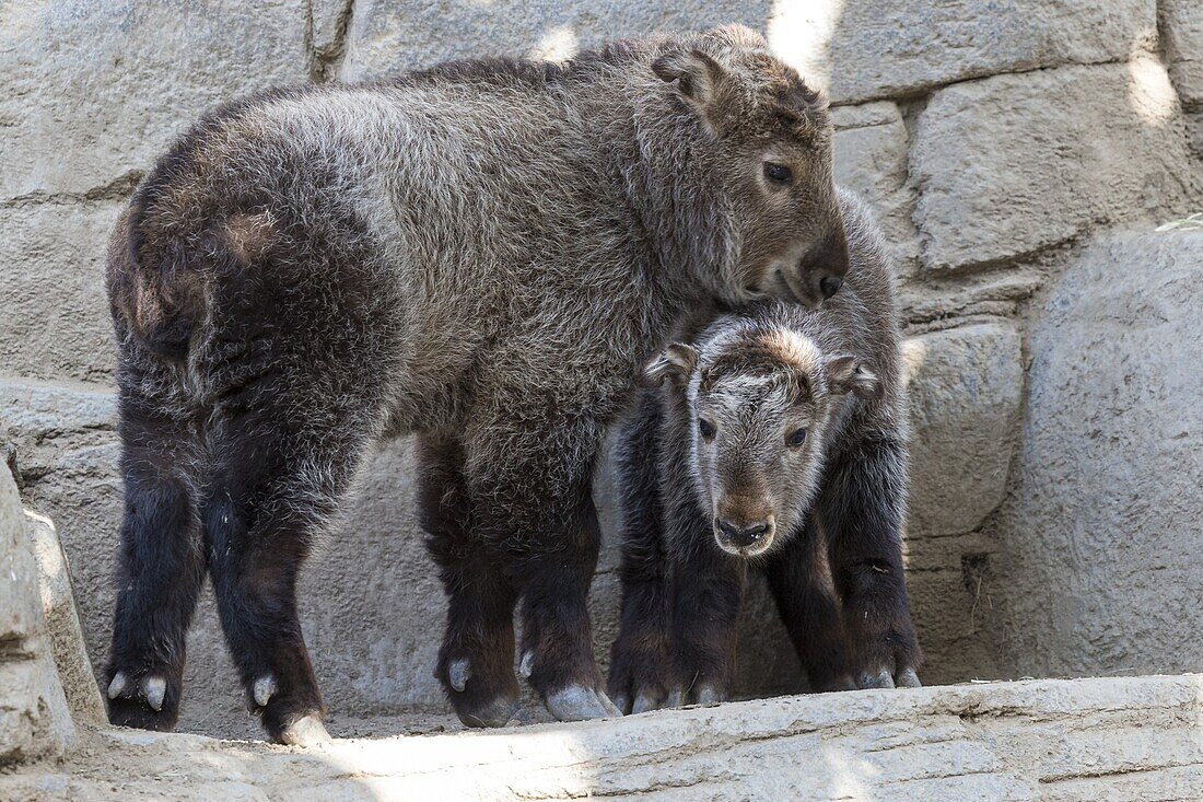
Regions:
<svg viewBox="0 0 1203 802"><path fill-rule="evenodd" d="M431 555L448 595L448 620L434 676L468 726L497 727L517 712L514 606L517 589L502 555L473 536L463 450L450 441L419 441L417 494Z"/></svg>

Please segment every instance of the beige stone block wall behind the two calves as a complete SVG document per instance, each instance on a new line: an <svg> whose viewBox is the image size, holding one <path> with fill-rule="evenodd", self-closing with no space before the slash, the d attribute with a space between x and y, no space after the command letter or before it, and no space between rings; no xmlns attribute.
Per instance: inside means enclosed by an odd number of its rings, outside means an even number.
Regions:
<svg viewBox="0 0 1203 802"><path fill-rule="evenodd" d="M768 31L783 57L828 87L837 177L870 200L891 240L909 334L915 435L906 548L925 680L1203 668L1197 651L1162 650L1185 632L1189 589L1203 584L1179 550L1190 532L1175 524L1179 512L1197 520L1197 505L1171 494L1171 512L1161 515L1089 519L1139 532L1091 541L1092 549L1112 554L1138 543L1140 556L1165 559L1156 582L1178 589L1169 608L1136 626L1136 602L1125 601L1124 589L1145 600L1139 594L1158 585L1131 559L1100 567L1075 529L1086 524L1066 520L1069 511L1101 503L1109 486L1110 479L1084 482L1081 460L1108 462L1132 450L1106 440L1097 450L1074 450L1094 429L1068 426L1056 409L1109 409L1104 397L1084 401L1095 397L1096 372L1081 365L1041 372L1045 352L1072 361L1130 317L1160 314L1100 303L1074 318L1063 311L1090 294L1074 289L1074 300L1059 301L1069 291L1059 282L1062 273L1067 281L1089 273L1100 287L1122 278L1125 291L1138 294L1148 289L1140 276L1160 264L1150 259L1186 247L1154 234L1132 247L1089 243L1114 229L1148 232L1203 207L1201 7L1195 0L0 2L0 440L16 444L25 505L58 524L93 664L103 665L107 648L120 513L101 259L122 204L155 154L221 99L273 83L367 78L476 54L565 58L606 39L735 20ZM1180 329L1157 336L1189 341L1192 324L1178 319ZM1157 342L1137 344L1157 350ZM1059 343L1068 350L1053 356ZM1165 370L1163 361L1148 364L1154 376ZM1059 395L1062 377L1075 382L1068 395ZM1192 397L1189 382L1157 387L1174 399L1175 414ZM1053 429L1066 434L1044 437ZM1190 446L1198 430L1184 431L1149 447L1169 442L1177 460L1197 466ZM1049 483L1075 488L1077 507L1033 495L1033 485ZM599 477L603 500L606 484ZM304 579L306 635L336 732L338 717L443 706L429 676L442 592L410 493L408 447L390 444L369 466L346 530ZM612 506L603 506L612 521ZM593 590L602 657L617 605L612 526L605 530ZM1066 572L1089 579L1059 584ZM1067 594L1086 601L1067 606ZM761 595L747 612L741 684L748 694L800 682L766 611ZM1086 637L1100 645L1083 648L1083 627L1091 626L1097 632ZM1124 647L1108 648L1116 631ZM253 735L209 600L189 656L182 727Z"/></svg>

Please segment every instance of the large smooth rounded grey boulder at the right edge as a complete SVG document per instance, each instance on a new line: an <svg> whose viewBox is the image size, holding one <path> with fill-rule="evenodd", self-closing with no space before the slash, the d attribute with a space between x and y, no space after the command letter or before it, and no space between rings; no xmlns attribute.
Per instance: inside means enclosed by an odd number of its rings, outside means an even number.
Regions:
<svg viewBox="0 0 1203 802"><path fill-rule="evenodd" d="M1045 300L997 531L1017 671L1203 666L1199 308L1203 232L1103 236Z"/></svg>

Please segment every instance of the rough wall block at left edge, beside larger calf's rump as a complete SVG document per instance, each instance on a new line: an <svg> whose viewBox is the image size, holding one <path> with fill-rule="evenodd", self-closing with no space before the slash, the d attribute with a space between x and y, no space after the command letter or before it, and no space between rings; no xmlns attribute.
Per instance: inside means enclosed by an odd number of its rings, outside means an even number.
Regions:
<svg viewBox="0 0 1203 802"><path fill-rule="evenodd" d="M38 378L105 379L115 366L105 249L118 201L0 206L0 365Z"/></svg>

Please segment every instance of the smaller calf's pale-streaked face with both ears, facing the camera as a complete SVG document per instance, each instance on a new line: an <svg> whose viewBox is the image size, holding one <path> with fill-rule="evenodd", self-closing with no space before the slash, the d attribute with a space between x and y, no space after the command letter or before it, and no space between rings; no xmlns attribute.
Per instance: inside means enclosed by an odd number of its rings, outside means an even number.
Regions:
<svg viewBox="0 0 1203 802"><path fill-rule="evenodd" d="M790 329L723 332L672 343L642 381L686 397L688 466L698 502L729 554L753 558L804 521L823 474L825 438L841 399L870 399L878 379L847 355L824 355Z"/></svg>

